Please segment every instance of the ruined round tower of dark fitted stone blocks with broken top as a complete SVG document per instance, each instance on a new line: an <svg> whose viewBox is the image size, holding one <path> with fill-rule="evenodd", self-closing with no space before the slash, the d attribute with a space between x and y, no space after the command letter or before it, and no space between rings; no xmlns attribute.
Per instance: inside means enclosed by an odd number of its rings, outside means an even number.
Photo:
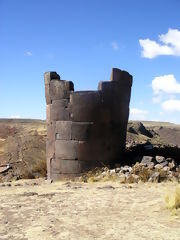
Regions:
<svg viewBox="0 0 180 240"><path fill-rule="evenodd" d="M117 68L97 91L74 91L71 81L46 72L48 178L74 176L121 161L132 76Z"/></svg>

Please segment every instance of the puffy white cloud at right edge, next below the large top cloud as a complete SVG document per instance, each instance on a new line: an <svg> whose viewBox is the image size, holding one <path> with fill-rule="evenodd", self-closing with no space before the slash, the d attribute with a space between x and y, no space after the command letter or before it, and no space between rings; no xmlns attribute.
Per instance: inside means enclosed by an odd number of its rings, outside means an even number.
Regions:
<svg viewBox="0 0 180 240"><path fill-rule="evenodd" d="M177 94L180 93L180 83L177 82L173 74L159 76L152 80L152 89L155 95L161 93Z"/></svg>

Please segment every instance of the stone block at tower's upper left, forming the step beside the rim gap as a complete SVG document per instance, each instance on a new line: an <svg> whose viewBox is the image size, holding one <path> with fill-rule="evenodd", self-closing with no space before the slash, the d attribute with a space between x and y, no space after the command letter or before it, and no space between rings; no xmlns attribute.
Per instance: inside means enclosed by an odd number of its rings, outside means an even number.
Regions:
<svg viewBox="0 0 180 240"><path fill-rule="evenodd" d="M63 80L53 80L49 85L49 95L51 100L68 99L71 91L74 90L72 82Z"/></svg>

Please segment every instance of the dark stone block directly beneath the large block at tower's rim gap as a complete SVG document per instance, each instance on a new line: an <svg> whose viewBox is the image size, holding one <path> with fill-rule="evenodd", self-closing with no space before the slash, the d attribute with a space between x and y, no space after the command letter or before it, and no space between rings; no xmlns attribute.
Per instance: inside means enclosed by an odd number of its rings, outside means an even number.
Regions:
<svg viewBox="0 0 180 240"><path fill-rule="evenodd" d="M71 139L84 141L90 138L92 122L72 122Z"/></svg>

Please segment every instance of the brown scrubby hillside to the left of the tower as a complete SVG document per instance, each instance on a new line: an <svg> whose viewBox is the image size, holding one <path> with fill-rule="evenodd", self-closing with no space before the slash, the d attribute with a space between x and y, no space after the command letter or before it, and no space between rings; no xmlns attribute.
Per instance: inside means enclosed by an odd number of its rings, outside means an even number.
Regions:
<svg viewBox="0 0 180 240"><path fill-rule="evenodd" d="M0 181L46 175L46 124L41 120L0 119Z"/></svg>

